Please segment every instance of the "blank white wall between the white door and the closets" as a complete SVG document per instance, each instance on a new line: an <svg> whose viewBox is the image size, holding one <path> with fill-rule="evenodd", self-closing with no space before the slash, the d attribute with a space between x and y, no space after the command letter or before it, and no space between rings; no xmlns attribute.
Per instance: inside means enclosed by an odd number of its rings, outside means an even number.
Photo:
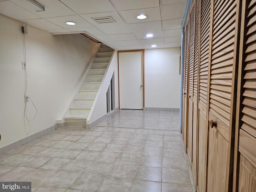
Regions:
<svg viewBox="0 0 256 192"><path fill-rule="evenodd" d="M145 50L145 107L180 108L180 48Z"/></svg>

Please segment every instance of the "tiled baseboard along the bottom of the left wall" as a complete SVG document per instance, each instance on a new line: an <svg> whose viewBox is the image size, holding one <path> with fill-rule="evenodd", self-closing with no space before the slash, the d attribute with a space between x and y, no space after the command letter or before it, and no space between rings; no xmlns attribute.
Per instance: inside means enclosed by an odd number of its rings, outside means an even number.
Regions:
<svg viewBox="0 0 256 192"><path fill-rule="evenodd" d="M16 148L18 148L18 147L20 147L20 146L22 146L22 145L32 141L32 140L35 140L36 138L39 138L40 136L43 136L43 135L48 134L50 132L53 132L54 130L56 130L56 128L57 128L57 124L55 124L54 126L51 126L50 128L46 128L45 130L42 130L42 131L34 133L34 134L30 135L30 136L27 136L27 137L25 137L25 138L23 138L21 140L18 140L16 142L8 144L8 145L6 145L4 147L1 147L0 148L0 155L4 154L4 153L7 153L10 150L16 149Z"/></svg>

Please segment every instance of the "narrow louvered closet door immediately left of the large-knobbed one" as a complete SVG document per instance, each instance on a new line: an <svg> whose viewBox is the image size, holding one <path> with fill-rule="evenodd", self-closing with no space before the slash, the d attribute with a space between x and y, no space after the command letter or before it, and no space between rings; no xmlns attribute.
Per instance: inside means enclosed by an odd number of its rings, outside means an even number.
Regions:
<svg viewBox="0 0 256 192"><path fill-rule="evenodd" d="M198 180L197 191L206 191L207 163L207 89L210 41L210 7L209 0L200 3L200 49L198 72Z"/></svg>

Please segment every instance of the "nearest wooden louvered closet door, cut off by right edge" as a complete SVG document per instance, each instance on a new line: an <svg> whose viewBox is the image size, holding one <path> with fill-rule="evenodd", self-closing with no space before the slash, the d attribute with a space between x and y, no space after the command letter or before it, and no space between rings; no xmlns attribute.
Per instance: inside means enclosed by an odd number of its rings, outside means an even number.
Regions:
<svg viewBox="0 0 256 192"><path fill-rule="evenodd" d="M239 130L238 191L256 191L256 0L246 0L242 5L238 96L240 114L236 127ZM245 18L245 19L244 19Z"/></svg>

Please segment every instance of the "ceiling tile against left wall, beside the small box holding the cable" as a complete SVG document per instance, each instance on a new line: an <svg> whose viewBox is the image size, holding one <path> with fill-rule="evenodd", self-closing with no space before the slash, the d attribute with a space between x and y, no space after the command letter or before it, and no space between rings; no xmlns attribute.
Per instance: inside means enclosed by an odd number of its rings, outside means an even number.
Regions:
<svg viewBox="0 0 256 192"><path fill-rule="evenodd" d="M37 27L42 30L62 29L62 27L55 25L55 24L53 24L47 20L44 20L44 19L23 20L23 22L27 22L27 24Z"/></svg>

